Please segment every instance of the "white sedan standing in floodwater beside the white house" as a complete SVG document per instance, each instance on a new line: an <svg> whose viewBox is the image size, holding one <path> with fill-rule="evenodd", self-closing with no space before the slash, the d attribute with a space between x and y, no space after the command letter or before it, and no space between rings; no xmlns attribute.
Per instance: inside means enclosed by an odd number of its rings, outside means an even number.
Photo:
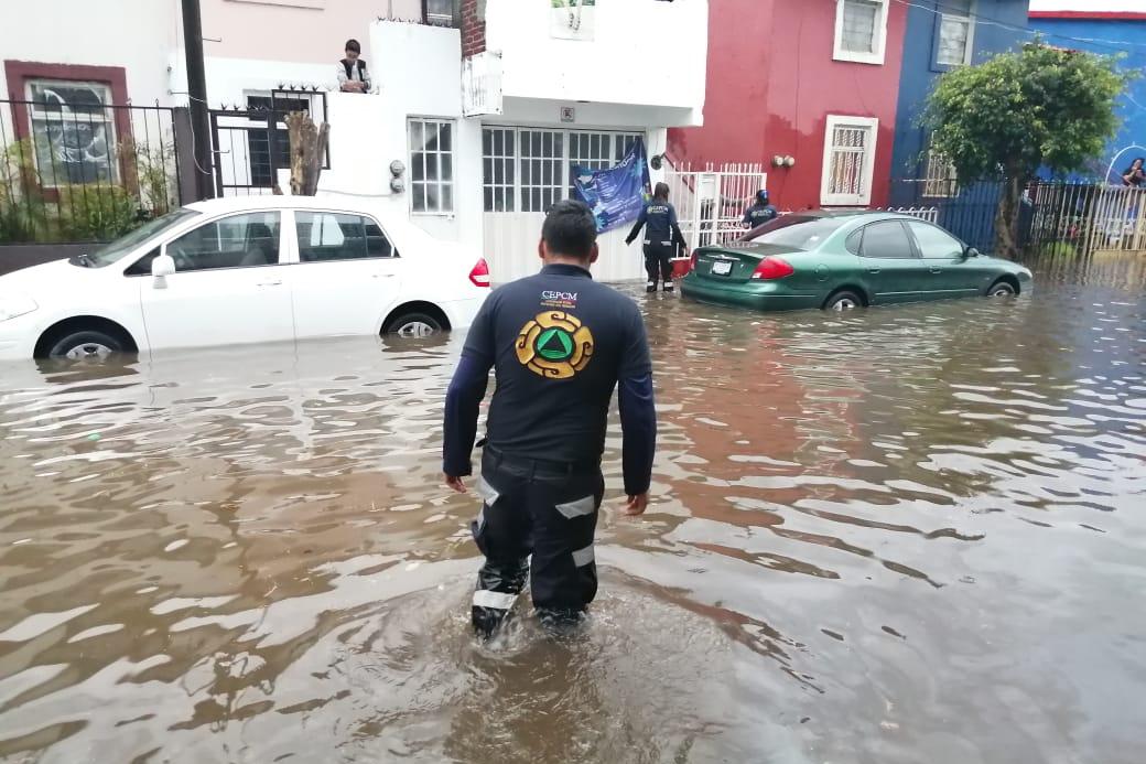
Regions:
<svg viewBox="0 0 1146 764"><path fill-rule="evenodd" d="M0 360L469 327L489 293L486 262L379 206L197 202L0 276Z"/></svg>

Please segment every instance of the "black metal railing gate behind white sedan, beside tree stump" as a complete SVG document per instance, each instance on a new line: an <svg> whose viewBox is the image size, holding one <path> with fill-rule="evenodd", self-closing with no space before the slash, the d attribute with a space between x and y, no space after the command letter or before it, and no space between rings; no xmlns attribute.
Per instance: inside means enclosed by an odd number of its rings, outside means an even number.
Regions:
<svg viewBox="0 0 1146 764"><path fill-rule="evenodd" d="M327 119L327 93L316 87L283 87L269 96L249 95L243 104L211 109L212 176L215 196L273 194L278 171L290 169L286 115L305 111ZM327 149L323 170L330 169Z"/></svg>

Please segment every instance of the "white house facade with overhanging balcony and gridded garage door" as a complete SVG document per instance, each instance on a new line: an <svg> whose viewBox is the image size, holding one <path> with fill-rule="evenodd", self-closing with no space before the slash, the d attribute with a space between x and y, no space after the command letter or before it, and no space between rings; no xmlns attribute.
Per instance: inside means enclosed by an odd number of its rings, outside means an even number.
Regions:
<svg viewBox="0 0 1146 764"><path fill-rule="evenodd" d="M330 166L320 192L385 197L433 235L480 248L497 281L536 271L544 211L572 194L572 165L615 164L637 138L659 155L668 127L701 124L707 0L463 0L453 25L444 25L448 2L432 20L417 0L395 3L356 38L371 94L322 93L335 86L338 39L322 61L292 61L295 45L276 60L214 55L209 42L210 98L246 107L282 85L317 88L276 98L313 112L324 102ZM222 163L228 173L257 158L241 156L250 151L241 142L222 148L235 155ZM626 233L602 237L598 278L642 276Z"/></svg>

